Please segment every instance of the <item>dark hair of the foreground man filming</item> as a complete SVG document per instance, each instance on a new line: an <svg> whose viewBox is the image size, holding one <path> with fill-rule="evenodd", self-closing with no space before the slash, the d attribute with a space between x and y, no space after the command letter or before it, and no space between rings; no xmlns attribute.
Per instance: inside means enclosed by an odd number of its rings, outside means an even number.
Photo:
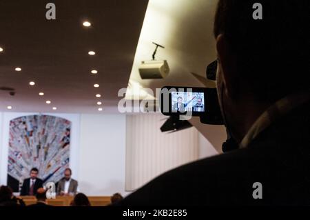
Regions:
<svg viewBox="0 0 310 220"><path fill-rule="evenodd" d="M253 18L256 2L262 5L261 20ZM309 88L307 21L308 0L220 0L214 36L223 34L254 97L276 101Z"/></svg>

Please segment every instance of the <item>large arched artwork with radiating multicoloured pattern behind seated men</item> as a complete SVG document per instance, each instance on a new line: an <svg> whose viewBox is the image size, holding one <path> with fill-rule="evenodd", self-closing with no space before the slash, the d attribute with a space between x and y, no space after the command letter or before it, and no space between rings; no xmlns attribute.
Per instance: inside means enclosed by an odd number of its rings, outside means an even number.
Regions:
<svg viewBox="0 0 310 220"><path fill-rule="evenodd" d="M28 115L10 121L8 186L28 178L31 168L39 177L56 183L70 161L71 122L50 115Z"/></svg>

